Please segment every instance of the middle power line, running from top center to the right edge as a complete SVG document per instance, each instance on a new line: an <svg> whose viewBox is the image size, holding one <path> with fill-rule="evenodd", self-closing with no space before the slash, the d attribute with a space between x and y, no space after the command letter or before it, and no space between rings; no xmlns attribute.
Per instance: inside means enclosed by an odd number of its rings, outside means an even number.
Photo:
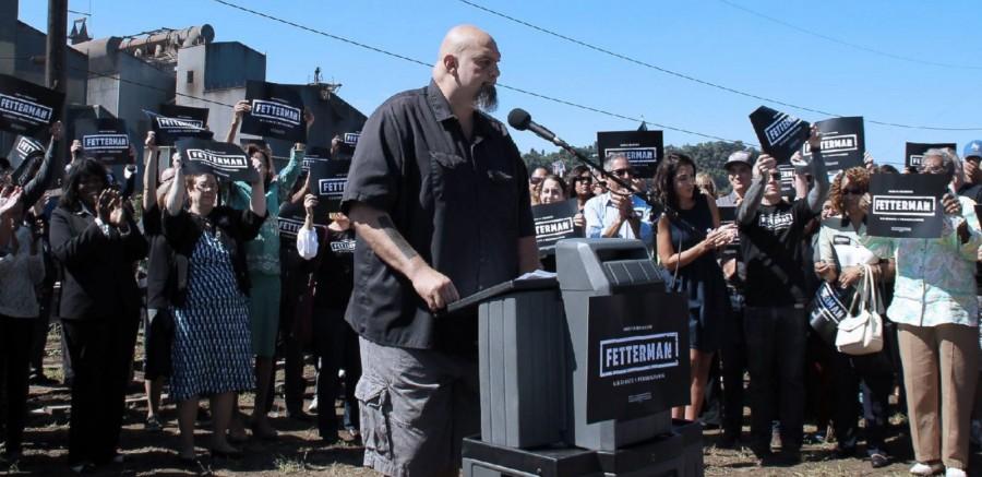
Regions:
<svg viewBox="0 0 982 477"><path fill-rule="evenodd" d="M215 0L215 1L221 1L221 0ZM657 65L657 64L654 64L654 63L650 63L650 62L647 62L647 61L644 61L644 60L639 60L639 59L637 59L637 58L630 57L630 56L627 56L627 55L619 53L619 52L616 52L616 51L612 51L612 50L609 50L609 49L606 49L606 48L602 48L602 47L599 47L599 46L596 46L596 45L586 43L586 41L584 41L584 40L576 39L576 38L573 38L573 37L563 35L563 34L558 33L558 32L553 32L553 31L551 31L551 29L548 29L548 28L544 28L544 27L541 27L541 26L531 24L531 23L529 23L529 22L526 22L526 21L520 20L520 19L516 19L516 17L514 17L514 16L510 16L510 15L507 15L507 14L505 14L505 13L499 12L499 11L496 11L496 10L489 9L489 8L487 8L487 7L483 7L483 5L481 5L481 4L475 3L475 2L469 1L469 0L457 0L457 1L460 2L460 3L467 4L467 5L470 5L470 7L475 8L475 9L478 9L478 10L484 11L484 12L487 12L487 13L490 13L490 14L492 14L492 15L495 15L495 16L499 16L499 17L502 17L502 19L505 19L505 20L507 20L507 21L510 21L510 22L514 22L514 23L517 23L517 24L519 24L519 25L527 26L527 27L529 27L529 28L531 28L531 29L535 29L535 31L537 31L537 32L541 32L541 33L544 33L544 34L547 34L547 35L554 36L554 37L556 37L556 38L560 38L560 39L563 39L563 40L573 43L573 44L578 45L578 46L582 46L582 47L584 47L584 48L591 49L591 50L594 50L594 51L598 51L598 52L601 52L601 53L603 53L603 55L608 55L608 56L611 56L611 57L614 57L614 58L618 58L618 59L627 61L627 62L630 62L630 63L634 63L634 64L637 64L637 65L640 65L640 67L644 67L644 68L648 68L648 69L655 70L655 71L659 71L659 72L661 72L661 73L664 73L664 74L668 74L668 75L671 75L671 76L675 76L675 77L679 77L679 79L682 79L682 80L685 80L685 81L690 81L690 82L693 82L693 83L698 83L698 84L702 84L702 85L704 85L704 86L708 86L708 87L712 87L712 88L716 88L716 90L724 91L724 92L727 92L727 93L732 93L732 94L735 94L735 95L740 95L740 96L744 96L744 97L749 97L749 98L762 100L762 102L765 102L765 103L771 103L771 104L776 104L776 105L787 106L787 107L789 107L789 108L794 108L794 109L799 109L799 110L802 110L802 111L815 112L815 114L818 114L818 115L823 115L823 116L833 116L833 117L841 117L841 116L842 116L842 115L837 115L837 114L835 114L835 112L824 111L824 110L822 110L822 109L811 108L811 107L807 107L807 106L797 105L797 104L793 104L793 103L787 103L787 102L782 102L782 100L779 100L779 99L768 98L768 97L761 96L761 95L756 95L756 94L753 94L753 93L747 93L747 92L745 92L745 91L736 90L736 88L733 88L733 87L730 87L730 86L726 86L726 85L722 85L722 84L718 84L718 83L712 83L712 82L710 82L710 81L700 80L700 79L698 79L698 77L691 76L691 75L685 74L685 73L680 73L680 72L678 72L678 71L669 70L668 68L659 67L659 65ZM980 131L980 130L982 130L982 127L978 127L978 128L947 128L947 127L935 127L935 126L902 124L902 123L898 123L898 122L877 121L877 120L873 120L873 119L865 119L865 121L866 121L866 122L870 122L870 123L873 123L873 124L889 126L889 127L894 127L894 128L924 129L924 130L932 130L932 131Z"/></svg>

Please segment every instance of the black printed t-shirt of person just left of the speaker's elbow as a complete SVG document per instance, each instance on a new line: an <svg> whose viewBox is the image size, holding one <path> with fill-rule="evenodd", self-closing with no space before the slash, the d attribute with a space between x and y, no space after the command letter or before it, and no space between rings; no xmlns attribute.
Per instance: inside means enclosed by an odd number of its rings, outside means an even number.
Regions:
<svg viewBox="0 0 982 477"><path fill-rule="evenodd" d="M344 310L351 298L355 284L355 230L335 231L327 229L327 239L321 242L318 252L316 308Z"/></svg>

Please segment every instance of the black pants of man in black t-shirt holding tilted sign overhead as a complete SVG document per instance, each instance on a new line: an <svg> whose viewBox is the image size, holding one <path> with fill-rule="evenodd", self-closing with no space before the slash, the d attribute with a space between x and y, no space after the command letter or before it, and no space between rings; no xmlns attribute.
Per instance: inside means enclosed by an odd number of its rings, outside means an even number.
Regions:
<svg viewBox="0 0 982 477"><path fill-rule="evenodd" d="M755 451L768 449L771 420L778 417L781 450L798 451L804 426L805 310L747 307L743 324L751 374L752 445Z"/></svg>

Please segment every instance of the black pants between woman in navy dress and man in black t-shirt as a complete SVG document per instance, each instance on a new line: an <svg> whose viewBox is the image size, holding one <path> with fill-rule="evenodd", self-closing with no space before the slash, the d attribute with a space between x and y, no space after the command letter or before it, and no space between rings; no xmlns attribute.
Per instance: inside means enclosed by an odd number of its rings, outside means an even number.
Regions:
<svg viewBox="0 0 982 477"><path fill-rule="evenodd" d="M743 336L743 310L734 311L723 324L719 350L723 384L723 436L740 437L743 426L743 373L746 371L746 339Z"/></svg>

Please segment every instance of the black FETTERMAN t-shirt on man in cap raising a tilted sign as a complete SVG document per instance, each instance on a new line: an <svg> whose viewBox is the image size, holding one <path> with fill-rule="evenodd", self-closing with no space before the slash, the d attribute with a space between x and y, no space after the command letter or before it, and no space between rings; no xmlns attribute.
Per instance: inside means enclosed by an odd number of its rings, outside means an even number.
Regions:
<svg viewBox="0 0 982 477"><path fill-rule="evenodd" d="M789 307L812 298L805 277L811 247L804 227L818 214L806 199L757 208L749 225L740 225L740 249L746 263L747 307Z"/></svg>

